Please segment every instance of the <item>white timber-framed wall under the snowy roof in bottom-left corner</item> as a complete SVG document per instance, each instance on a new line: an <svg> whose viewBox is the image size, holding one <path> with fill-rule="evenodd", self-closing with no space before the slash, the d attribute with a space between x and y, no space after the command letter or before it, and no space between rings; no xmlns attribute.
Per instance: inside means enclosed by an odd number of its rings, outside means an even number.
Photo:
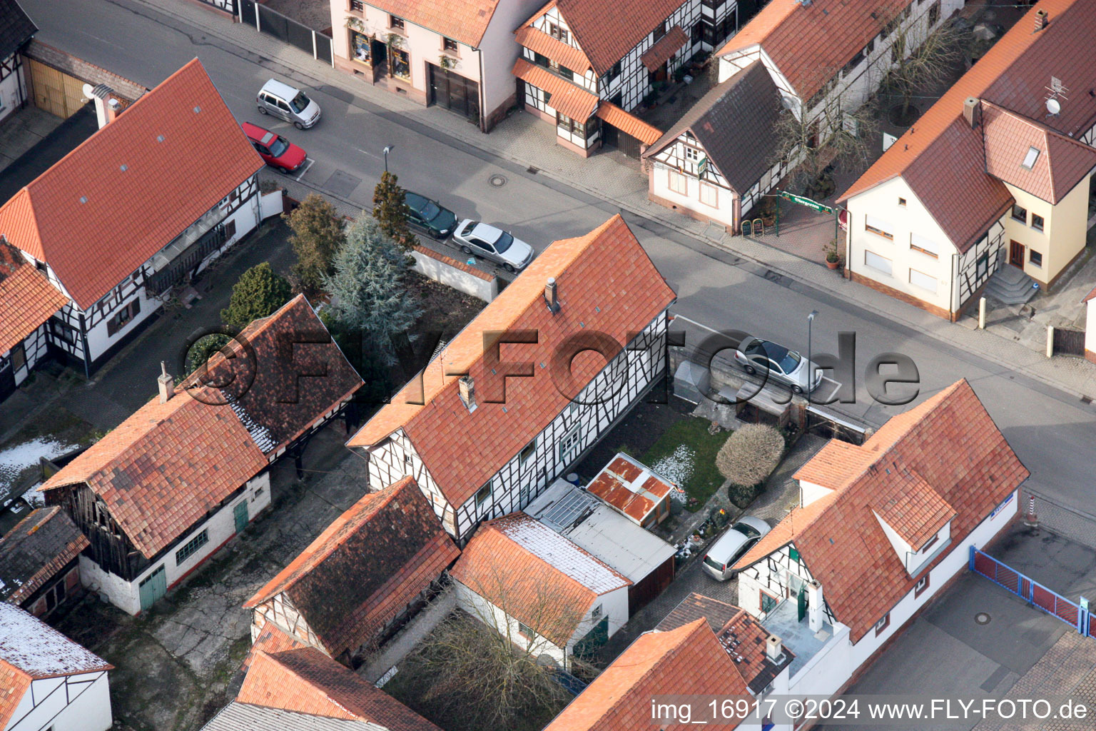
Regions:
<svg viewBox="0 0 1096 731"><path fill-rule="evenodd" d="M98 672L32 681L4 731L106 731L111 723L106 672Z"/></svg>

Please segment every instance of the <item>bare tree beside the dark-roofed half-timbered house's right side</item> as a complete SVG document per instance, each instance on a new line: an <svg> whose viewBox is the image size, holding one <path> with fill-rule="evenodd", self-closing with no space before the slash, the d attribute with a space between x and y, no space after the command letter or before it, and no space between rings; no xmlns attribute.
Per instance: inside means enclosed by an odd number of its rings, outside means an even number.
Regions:
<svg viewBox="0 0 1096 731"><path fill-rule="evenodd" d="M795 167L788 176L791 192L824 198L832 193L826 190L825 169L831 163L867 162L879 122L870 103L854 106L844 94L829 93L840 79L840 69L815 73L817 84L811 85L820 91L806 104L785 108L773 127L772 163L785 161Z"/></svg>

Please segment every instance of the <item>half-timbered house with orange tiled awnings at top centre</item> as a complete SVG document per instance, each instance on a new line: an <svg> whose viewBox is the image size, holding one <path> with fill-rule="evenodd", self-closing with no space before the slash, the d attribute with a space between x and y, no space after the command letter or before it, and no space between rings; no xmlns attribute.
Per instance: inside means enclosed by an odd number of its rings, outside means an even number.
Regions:
<svg viewBox="0 0 1096 731"><path fill-rule="evenodd" d="M632 114L657 84L738 28L735 0L612 4L552 0L520 28L518 101L589 157L602 145L639 157L662 133Z"/></svg>

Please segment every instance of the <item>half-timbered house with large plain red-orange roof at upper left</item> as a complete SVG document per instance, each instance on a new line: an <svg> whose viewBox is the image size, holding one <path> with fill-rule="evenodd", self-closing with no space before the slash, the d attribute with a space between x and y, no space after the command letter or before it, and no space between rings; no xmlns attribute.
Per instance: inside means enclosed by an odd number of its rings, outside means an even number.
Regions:
<svg viewBox="0 0 1096 731"><path fill-rule="evenodd" d="M119 347L259 225L262 167L194 59L20 190L0 236L68 297L50 349L89 368Z"/></svg>

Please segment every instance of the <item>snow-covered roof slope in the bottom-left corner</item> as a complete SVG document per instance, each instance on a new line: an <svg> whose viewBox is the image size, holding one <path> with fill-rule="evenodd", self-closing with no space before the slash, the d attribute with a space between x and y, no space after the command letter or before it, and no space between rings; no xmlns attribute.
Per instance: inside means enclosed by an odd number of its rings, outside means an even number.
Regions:
<svg viewBox="0 0 1096 731"><path fill-rule="evenodd" d="M19 607L0 603L0 660L31 677L77 675L111 665Z"/></svg>

